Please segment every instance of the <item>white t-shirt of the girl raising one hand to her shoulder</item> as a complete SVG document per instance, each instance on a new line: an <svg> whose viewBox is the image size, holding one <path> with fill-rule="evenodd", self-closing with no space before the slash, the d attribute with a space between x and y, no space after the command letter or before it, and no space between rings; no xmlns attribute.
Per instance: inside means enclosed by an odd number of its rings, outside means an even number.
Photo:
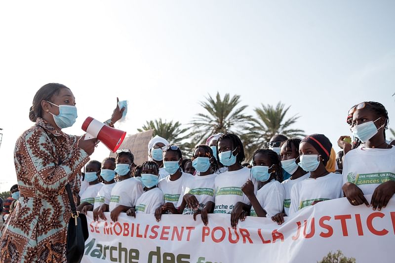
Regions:
<svg viewBox="0 0 395 263"><path fill-rule="evenodd" d="M282 212L284 197L284 187L274 179L260 188L256 193L256 199L258 199L259 204L266 211L267 218L271 218ZM251 207L250 216L257 216L254 207Z"/></svg>

